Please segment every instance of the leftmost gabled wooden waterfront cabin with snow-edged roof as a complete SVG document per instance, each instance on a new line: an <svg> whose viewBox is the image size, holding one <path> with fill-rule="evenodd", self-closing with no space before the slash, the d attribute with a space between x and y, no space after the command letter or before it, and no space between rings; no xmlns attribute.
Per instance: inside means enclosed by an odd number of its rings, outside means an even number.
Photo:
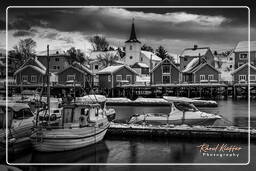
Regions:
<svg viewBox="0 0 256 171"><path fill-rule="evenodd" d="M29 58L15 73L18 85L38 85L46 81L46 68L35 58Z"/></svg>

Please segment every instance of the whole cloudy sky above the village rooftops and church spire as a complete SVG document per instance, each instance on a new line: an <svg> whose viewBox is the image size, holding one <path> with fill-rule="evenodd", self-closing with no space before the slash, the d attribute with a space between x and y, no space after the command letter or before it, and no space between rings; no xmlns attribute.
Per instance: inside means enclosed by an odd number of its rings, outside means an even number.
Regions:
<svg viewBox="0 0 256 171"><path fill-rule="evenodd" d="M74 46L88 52L88 37L98 34L113 46L124 46L132 18L142 44L162 45L176 54L194 44L224 51L248 37L247 8L9 8L8 45L11 49L31 37L38 53L47 44L50 49ZM254 24L251 31L255 32ZM4 36L4 30L0 34ZM5 48L4 42L0 48Z"/></svg>

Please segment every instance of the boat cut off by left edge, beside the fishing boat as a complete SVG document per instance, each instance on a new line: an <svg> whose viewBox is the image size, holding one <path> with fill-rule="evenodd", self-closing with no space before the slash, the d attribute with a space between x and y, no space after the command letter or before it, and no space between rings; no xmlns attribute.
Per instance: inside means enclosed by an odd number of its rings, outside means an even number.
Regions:
<svg viewBox="0 0 256 171"><path fill-rule="evenodd" d="M6 105L8 111L6 112ZM6 126L6 119L7 126ZM30 146L29 137L32 134L34 114L28 104L0 102L0 144L5 148L8 137L8 151L18 152ZM8 136L6 136L6 128Z"/></svg>

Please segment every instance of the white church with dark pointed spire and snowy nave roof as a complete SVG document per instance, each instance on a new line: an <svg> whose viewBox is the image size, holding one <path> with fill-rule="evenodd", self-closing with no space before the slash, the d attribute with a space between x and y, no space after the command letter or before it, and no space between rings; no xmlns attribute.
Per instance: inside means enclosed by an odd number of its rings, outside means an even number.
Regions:
<svg viewBox="0 0 256 171"><path fill-rule="evenodd" d="M136 63L146 64L151 70L162 59L149 51L141 50L141 42L137 39L134 20L132 22L130 38L125 42L125 57L124 62L129 66Z"/></svg>

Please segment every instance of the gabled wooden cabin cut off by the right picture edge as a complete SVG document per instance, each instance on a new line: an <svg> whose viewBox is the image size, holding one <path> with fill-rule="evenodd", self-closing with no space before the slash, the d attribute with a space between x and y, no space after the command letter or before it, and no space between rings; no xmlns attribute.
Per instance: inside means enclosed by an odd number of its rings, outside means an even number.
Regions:
<svg viewBox="0 0 256 171"><path fill-rule="evenodd" d="M250 78L249 78L250 68ZM232 72L234 84L256 83L256 67L245 63Z"/></svg>

